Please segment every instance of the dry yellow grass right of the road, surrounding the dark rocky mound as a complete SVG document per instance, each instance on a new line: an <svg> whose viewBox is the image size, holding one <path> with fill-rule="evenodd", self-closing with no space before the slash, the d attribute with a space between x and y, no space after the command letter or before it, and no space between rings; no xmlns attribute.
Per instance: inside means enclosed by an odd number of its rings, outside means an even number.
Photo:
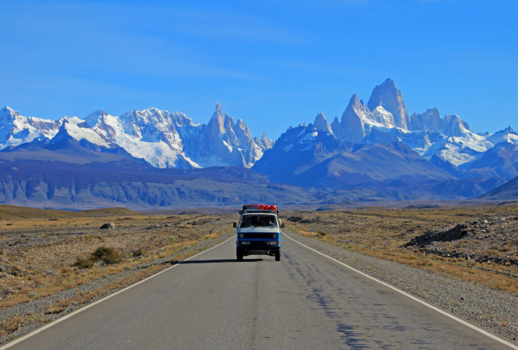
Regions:
<svg viewBox="0 0 518 350"><path fill-rule="evenodd" d="M344 249L409 264L430 272L484 284L518 294L518 267L510 263L485 263L474 260L423 254L418 248L402 245L427 230L441 230L457 223L488 216L512 217L516 206L389 209L362 208L333 212L287 212L283 213L287 228L316 239L335 244ZM498 230L505 225L498 225ZM514 226L509 229L513 230ZM515 232L515 231L514 231ZM500 235L500 231L496 232ZM495 235L497 235L495 234ZM501 235L500 235L501 236ZM456 240L444 243L446 249L484 254L510 254L516 242L493 242L483 240ZM489 241L488 241L489 242ZM465 250L462 250L465 249ZM507 249L507 250L506 250ZM507 253L506 253L507 252ZM510 257L512 258L512 256Z"/></svg>

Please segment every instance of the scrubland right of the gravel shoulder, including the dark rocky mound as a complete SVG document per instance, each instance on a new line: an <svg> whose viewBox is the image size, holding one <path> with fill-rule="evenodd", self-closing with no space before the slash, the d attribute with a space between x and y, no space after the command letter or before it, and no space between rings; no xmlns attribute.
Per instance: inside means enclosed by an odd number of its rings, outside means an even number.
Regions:
<svg viewBox="0 0 518 350"><path fill-rule="evenodd" d="M518 207L285 212L293 232L518 295Z"/></svg>

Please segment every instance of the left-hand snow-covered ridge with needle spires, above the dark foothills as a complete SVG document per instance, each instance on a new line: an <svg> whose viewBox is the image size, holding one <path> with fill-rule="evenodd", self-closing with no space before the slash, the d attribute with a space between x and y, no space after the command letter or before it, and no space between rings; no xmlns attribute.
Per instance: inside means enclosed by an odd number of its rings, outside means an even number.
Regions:
<svg viewBox="0 0 518 350"><path fill-rule="evenodd" d="M274 144L265 133L252 137L247 125L223 116L218 103L207 124L195 124L183 113L149 108L111 116L104 110L85 118L54 121L24 117L0 109L0 149L45 148L73 139L99 152L126 153L155 167L190 169L207 166L251 167ZM31 145L27 145L31 144Z"/></svg>

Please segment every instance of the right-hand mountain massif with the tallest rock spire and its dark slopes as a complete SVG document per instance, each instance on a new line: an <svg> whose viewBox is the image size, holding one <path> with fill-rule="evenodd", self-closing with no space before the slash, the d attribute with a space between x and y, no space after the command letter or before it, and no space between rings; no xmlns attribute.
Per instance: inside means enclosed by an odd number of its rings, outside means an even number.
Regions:
<svg viewBox="0 0 518 350"><path fill-rule="evenodd" d="M401 91L386 79L367 104L354 94L341 120L329 123L319 113L311 124L290 127L252 169L272 181L327 190L408 193L433 184L448 188L444 199L473 198L518 175L518 134L511 127L477 134L437 108L409 115Z"/></svg>

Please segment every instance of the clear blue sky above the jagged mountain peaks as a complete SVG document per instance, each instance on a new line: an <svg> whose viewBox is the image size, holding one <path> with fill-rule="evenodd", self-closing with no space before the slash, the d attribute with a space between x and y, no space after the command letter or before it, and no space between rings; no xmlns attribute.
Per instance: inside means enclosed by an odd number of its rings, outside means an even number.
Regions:
<svg viewBox="0 0 518 350"><path fill-rule="evenodd" d="M515 1L0 0L0 13L0 105L25 116L157 107L201 123L220 101L275 139L390 77L410 114L518 129Z"/></svg>

